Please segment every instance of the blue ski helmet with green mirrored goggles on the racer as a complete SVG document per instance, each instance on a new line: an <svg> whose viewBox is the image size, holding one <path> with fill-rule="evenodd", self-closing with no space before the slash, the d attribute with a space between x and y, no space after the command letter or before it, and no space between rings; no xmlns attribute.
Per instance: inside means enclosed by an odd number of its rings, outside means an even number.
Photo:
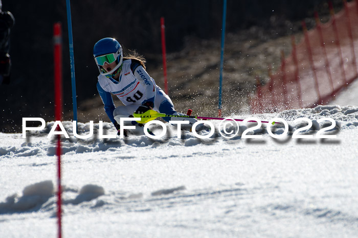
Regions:
<svg viewBox="0 0 358 238"><path fill-rule="evenodd" d="M95 58L99 72L102 75L111 77L117 74L122 69L121 67L123 61L122 46L114 38L103 38L99 40L93 47L93 56ZM102 67L105 62L111 64L115 61L117 62L117 66L110 72L107 72Z"/></svg>

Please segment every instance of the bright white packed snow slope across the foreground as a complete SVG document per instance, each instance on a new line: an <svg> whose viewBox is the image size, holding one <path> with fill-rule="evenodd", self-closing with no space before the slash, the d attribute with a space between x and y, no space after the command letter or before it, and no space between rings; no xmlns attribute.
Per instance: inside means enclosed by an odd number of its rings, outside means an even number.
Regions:
<svg viewBox="0 0 358 238"><path fill-rule="evenodd" d="M236 115L248 118L253 115ZM274 139L266 125L241 138L254 124L239 123L232 139L215 134L182 139L166 124L166 137L80 140L63 122L62 232L64 237L356 237L358 234L358 107L329 105L289 110L274 117L289 124ZM293 139L305 125L312 126ZM318 130L336 125L318 139ZM56 141L54 122L23 139L1 134L1 237L55 237ZM95 123L95 134L98 128ZM89 123L79 123L88 133ZM116 134L104 123L107 134ZM283 124L272 126L275 135ZM235 129L233 126L230 129ZM153 128L154 133L159 130Z"/></svg>

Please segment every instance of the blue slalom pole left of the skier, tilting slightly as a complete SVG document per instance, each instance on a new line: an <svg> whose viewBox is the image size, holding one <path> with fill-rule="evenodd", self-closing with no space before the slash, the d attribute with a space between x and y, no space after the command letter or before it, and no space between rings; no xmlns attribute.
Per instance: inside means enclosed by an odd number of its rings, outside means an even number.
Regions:
<svg viewBox="0 0 358 238"><path fill-rule="evenodd" d="M76 78L75 78L75 57L74 57L74 53L73 53L72 21L71 21L70 0L66 0L66 9L67 9L67 25L68 25L68 29L69 29L73 120L76 121L76 130L77 130L77 95L76 95Z"/></svg>

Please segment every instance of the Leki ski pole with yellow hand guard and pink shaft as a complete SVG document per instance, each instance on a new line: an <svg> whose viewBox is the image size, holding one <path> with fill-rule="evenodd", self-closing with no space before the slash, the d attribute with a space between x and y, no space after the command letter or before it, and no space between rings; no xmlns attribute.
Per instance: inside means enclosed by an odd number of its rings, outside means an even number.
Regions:
<svg viewBox="0 0 358 238"><path fill-rule="evenodd" d="M138 114L138 113L133 113L134 117L140 117L142 118L141 121L137 121L139 123L147 123L148 121L152 121L158 117L184 117L184 118L195 118L195 119L207 119L207 120L225 120L228 118L221 118L221 117L198 117L198 116L188 116L188 115L169 115L169 114L165 114L165 113L159 113L156 112L154 110L148 110L145 113L142 114ZM231 118L230 118L231 119ZM231 119L234 121L243 121L245 119ZM256 121L248 121L248 122L256 122ZM262 123L269 123L268 121L261 121ZM279 123L279 122L275 122L275 123Z"/></svg>

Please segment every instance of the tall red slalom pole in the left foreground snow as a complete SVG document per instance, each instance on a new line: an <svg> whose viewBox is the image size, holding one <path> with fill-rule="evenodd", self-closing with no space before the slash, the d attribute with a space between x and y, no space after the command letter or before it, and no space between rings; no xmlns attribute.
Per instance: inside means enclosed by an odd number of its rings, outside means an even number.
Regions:
<svg viewBox="0 0 358 238"><path fill-rule="evenodd" d="M54 24L54 86L55 120L61 121L62 114L62 29L61 23ZM61 238L61 136L57 135L57 224L58 237Z"/></svg>

